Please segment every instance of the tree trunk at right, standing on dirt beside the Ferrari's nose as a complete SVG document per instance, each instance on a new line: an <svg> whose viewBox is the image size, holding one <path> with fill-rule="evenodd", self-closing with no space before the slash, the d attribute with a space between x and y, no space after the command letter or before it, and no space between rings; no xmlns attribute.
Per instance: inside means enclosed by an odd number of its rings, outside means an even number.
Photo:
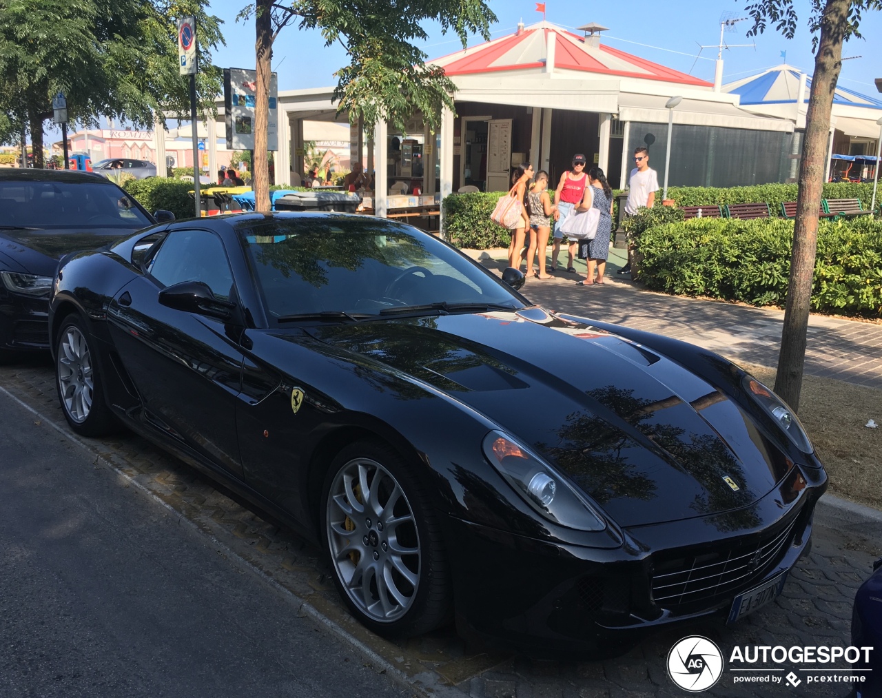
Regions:
<svg viewBox="0 0 882 698"><path fill-rule="evenodd" d="M824 186L833 91L842 67L842 41L848 27L851 0L826 0L821 21L815 72L811 79L809 109L805 117L803 157L799 163L799 196L781 353L775 392L791 408L799 409L803 387L806 332L811 307L811 284L818 249L818 211Z"/></svg>

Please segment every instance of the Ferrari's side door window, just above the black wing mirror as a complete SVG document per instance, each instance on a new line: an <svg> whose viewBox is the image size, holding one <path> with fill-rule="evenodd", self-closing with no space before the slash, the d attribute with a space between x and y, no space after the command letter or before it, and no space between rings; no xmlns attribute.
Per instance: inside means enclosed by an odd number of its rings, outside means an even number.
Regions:
<svg viewBox="0 0 882 698"><path fill-rule="evenodd" d="M222 299L229 297L233 274L221 238L207 230L173 230L147 262L147 274L163 286L202 281Z"/></svg>

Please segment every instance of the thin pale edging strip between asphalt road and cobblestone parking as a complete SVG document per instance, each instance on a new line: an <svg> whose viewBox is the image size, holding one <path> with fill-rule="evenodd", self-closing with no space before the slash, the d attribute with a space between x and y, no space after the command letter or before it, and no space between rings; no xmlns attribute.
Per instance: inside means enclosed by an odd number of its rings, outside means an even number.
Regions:
<svg viewBox="0 0 882 698"><path fill-rule="evenodd" d="M175 507L172 507L167 502L162 501L160 497L158 497L156 494L146 488L144 484L139 483L136 478L126 474L113 462L110 462L101 454L96 454L95 449L93 449L93 447L89 446L89 444L80 439L76 434L72 434L67 429L65 429L64 426L56 424L53 419L46 417L40 411L34 409L26 402L19 399L19 397L12 394L3 386L0 386L0 394L6 395L13 402L16 402L28 412L32 413L35 417L39 417L43 424L47 424L48 426L55 429L56 432L64 436L65 439L70 440L86 453L94 455L96 461L101 462L108 469L116 473L118 477L123 478L126 483L131 484L131 486L137 489L138 492L145 494L149 499L152 499L153 502L158 504L160 507L166 509L170 514L174 514L178 518L179 523L183 522L191 529L192 532L196 533L199 537L206 538L207 540L211 541L212 545L215 546L215 549L221 550L228 557L228 559L232 560L235 563L237 567L241 567L243 568L243 570L249 572L250 574L254 574L258 578L258 580L264 582L266 585L275 590L281 597L283 597L285 601L288 602L288 604L294 605L298 609L300 615L310 619L310 621L314 623L319 629L323 630L327 634L332 635L339 642L347 645L349 649L351 649L353 652L355 652L356 655L362 658L365 664L370 664L375 672L385 674L387 677L389 677L389 679L392 680L392 683L406 690L416 691L418 694L424 696L424 698L437 698L437 696L441 696L442 698L465 698L466 694L460 691L459 688L445 685L443 679L441 679L441 677L438 676L435 672L421 672L418 675L420 677L419 679L409 679L404 672L401 672L398 669L398 667L386 661L384 657L380 656L379 654L377 654L377 652L370 649L366 644L364 644L364 642L356 638L354 635L349 634L344 628L340 627L332 619L329 619L322 612L318 611L315 606L307 601L304 601L303 598L298 597L290 589L286 589L279 582L276 582L271 576L265 574L257 567L251 565L247 559L244 559L241 555L234 552L231 548L228 547L227 544L224 544L222 541L218 540L210 533L207 533L206 531L200 529L195 522L191 522L190 519L181 514L181 512L177 511Z"/></svg>

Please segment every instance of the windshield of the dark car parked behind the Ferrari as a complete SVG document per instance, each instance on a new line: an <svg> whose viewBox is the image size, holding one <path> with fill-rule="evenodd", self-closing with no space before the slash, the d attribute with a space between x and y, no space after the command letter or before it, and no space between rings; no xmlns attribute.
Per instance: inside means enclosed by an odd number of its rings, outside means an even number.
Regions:
<svg viewBox="0 0 882 698"><path fill-rule="evenodd" d="M88 180L0 182L0 211L0 228L134 230L152 222L115 184Z"/></svg>

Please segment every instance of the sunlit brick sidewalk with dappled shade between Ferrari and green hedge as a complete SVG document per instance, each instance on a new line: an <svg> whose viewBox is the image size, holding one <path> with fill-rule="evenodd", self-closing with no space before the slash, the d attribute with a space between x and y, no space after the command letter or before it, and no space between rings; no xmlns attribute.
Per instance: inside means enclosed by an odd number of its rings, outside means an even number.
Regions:
<svg viewBox="0 0 882 698"><path fill-rule="evenodd" d="M490 269L507 266L504 249L463 251ZM549 310L666 334L736 362L778 365L784 311L644 290L630 275L616 274L624 250L609 251L603 286L576 286L586 278L585 262L577 259L576 273L568 274L564 249L560 259L556 278L527 279L520 292ZM811 315L805 372L882 388L882 325Z"/></svg>

